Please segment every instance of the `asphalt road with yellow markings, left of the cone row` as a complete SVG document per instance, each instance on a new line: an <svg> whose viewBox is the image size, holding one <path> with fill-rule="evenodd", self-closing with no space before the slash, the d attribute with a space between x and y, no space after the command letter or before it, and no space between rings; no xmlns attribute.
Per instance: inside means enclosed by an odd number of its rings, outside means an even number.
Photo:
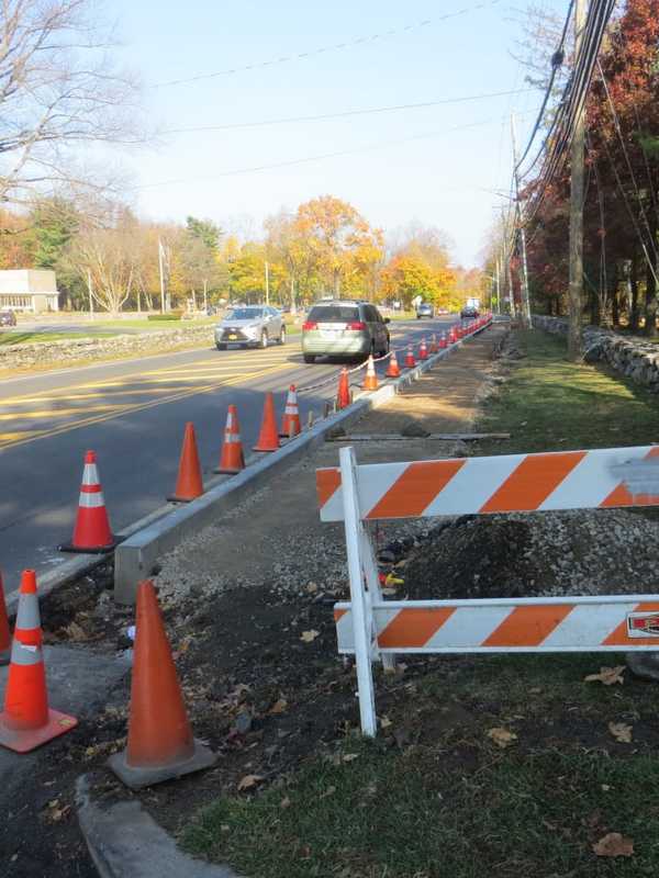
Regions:
<svg viewBox="0 0 659 878"><path fill-rule="evenodd" d="M455 317L391 326L399 348L446 329ZM402 367L402 357L399 356ZM386 364L379 367L382 373ZM60 370L0 382L0 570L5 592L24 567L52 570L70 555L82 458L98 454L114 530L163 506L174 491L186 421L197 431L204 479L220 459L226 407L238 408L243 443L255 444L264 393L283 409L299 387L338 376L340 364L302 362L299 337L267 350L215 348ZM364 373L354 376L361 380ZM300 393L303 420L334 398L336 381Z"/></svg>

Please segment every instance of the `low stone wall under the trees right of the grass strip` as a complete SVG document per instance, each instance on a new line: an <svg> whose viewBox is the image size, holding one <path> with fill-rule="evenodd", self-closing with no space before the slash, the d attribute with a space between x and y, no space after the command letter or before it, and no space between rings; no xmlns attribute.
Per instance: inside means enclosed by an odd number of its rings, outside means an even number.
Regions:
<svg viewBox="0 0 659 878"><path fill-rule="evenodd" d="M568 320L562 317L534 316L533 325L546 333L568 333ZM587 363L608 363L616 372L659 393L659 344L587 326L583 329L583 351Z"/></svg>

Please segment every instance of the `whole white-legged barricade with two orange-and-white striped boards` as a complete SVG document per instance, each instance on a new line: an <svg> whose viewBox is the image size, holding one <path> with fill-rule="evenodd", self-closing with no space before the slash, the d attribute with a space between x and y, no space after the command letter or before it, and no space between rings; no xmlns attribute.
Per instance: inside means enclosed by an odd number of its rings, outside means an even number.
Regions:
<svg viewBox="0 0 659 878"><path fill-rule="evenodd" d="M659 650L659 594L489 600L383 600L364 525L382 518L659 505L659 447L511 454L316 472L321 518L345 522L349 604L334 616L354 653L364 734L377 731L371 662L395 653Z"/></svg>

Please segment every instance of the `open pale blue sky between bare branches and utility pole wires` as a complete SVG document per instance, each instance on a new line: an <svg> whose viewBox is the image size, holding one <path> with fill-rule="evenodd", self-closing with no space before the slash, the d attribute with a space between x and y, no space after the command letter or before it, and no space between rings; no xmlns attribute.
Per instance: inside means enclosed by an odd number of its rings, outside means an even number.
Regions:
<svg viewBox="0 0 659 878"><path fill-rule="evenodd" d="M484 8L474 9L479 1ZM540 4L562 12L567 0ZM471 11L442 20L466 8ZM122 59L145 83L147 119L161 130L525 88L524 71L510 55L520 37L515 9L506 0L108 4L119 22ZM383 35L390 30L395 33ZM383 36L258 66L373 34ZM256 66L154 87L248 65ZM137 187L136 207L146 218L183 221L193 214L230 230L259 234L268 214L331 193L388 230L411 221L443 228L455 241L456 261L469 266L478 261L493 205L501 204L482 190L507 188L507 116L511 110L520 114L524 142L539 100L527 92L348 119L172 134L126 162ZM348 155L250 170L334 153ZM242 170L247 172L236 173Z"/></svg>

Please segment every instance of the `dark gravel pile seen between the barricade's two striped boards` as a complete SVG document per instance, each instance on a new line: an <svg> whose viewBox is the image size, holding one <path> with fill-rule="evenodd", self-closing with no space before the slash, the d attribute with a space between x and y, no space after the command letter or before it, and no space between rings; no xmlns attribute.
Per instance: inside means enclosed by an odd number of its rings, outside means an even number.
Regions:
<svg viewBox="0 0 659 878"><path fill-rule="evenodd" d="M659 520L625 509L465 516L401 575L418 599L645 594L659 587L658 539Z"/></svg>

